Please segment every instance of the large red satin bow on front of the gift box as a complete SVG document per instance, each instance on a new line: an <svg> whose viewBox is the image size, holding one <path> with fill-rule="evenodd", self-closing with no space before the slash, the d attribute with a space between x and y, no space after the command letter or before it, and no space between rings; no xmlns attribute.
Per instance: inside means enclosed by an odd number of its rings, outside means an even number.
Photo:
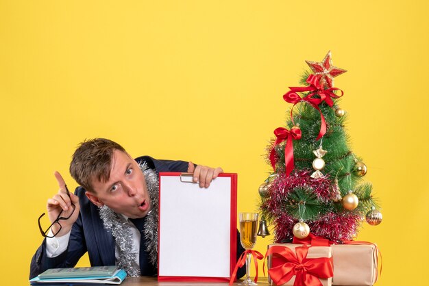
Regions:
<svg viewBox="0 0 429 286"><path fill-rule="evenodd" d="M285 261L268 270L275 285L282 285L295 276L294 286L322 286L319 278L334 276L332 257L306 258L308 246L299 246L295 252L286 246L272 246L267 251L265 257L275 254Z"/></svg>

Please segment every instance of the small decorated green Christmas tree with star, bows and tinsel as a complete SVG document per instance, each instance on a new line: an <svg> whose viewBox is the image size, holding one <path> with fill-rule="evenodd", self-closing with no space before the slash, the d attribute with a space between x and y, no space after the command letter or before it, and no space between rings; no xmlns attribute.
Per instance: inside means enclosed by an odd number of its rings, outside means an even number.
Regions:
<svg viewBox="0 0 429 286"><path fill-rule="evenodd" d="M273 172L259 188L260 209L275 242L312 233L341 244L356 237L365 218L376 225L382 215L363 181L367 166L345 132L344 93L334 88L334 77L346 70L332 66L330 51L322 62L306 62L311 73L283 96L293 104L290 119L267 147Z"/></svg>

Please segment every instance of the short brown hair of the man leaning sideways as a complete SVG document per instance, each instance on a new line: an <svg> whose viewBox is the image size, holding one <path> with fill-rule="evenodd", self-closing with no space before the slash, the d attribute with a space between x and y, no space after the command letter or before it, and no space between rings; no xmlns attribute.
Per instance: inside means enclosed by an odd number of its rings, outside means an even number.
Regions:
<svg viewBox="0 0 429 286"><path fill-rule="evenodd" d="M94 192L93 180L108 181L115 150L126 153L123 146L104 138L85 140L77 147L70 163L70 174L79 185Z"/></svg>

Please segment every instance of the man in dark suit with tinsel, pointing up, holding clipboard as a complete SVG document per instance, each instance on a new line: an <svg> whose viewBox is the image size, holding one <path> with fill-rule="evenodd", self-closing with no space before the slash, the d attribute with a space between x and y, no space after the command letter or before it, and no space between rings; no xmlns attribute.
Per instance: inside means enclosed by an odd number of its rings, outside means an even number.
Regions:
<svg viewBox="0 0 429 286"><path fill-rule="evenodd" d="M93 266L119 265L130 276L156 275L158 172L193 172L195 183L209 187L223 170L148 156L134 160L121 145L96 138L80 144L70 172L81 186L70 194L55 173L60 190L47 200L53 225L32 259L30 278L49 268L74 267L85 252ZM238 257L244 251L239 236L237 244Z"/></svg>

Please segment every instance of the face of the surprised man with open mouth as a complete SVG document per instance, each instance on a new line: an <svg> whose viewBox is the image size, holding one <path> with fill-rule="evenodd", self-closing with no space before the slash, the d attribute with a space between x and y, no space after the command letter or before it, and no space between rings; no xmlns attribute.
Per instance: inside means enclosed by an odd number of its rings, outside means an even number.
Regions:
<svg viewBox="0 0 429 286"><path fill-rule="evenodd" d="M136 161L127 153L116 150L110 168L106 183L93 180L95 194L87 192L88 198L97 206L107 205L129 218L146 216L151 205L145 176Z"/></svg>

